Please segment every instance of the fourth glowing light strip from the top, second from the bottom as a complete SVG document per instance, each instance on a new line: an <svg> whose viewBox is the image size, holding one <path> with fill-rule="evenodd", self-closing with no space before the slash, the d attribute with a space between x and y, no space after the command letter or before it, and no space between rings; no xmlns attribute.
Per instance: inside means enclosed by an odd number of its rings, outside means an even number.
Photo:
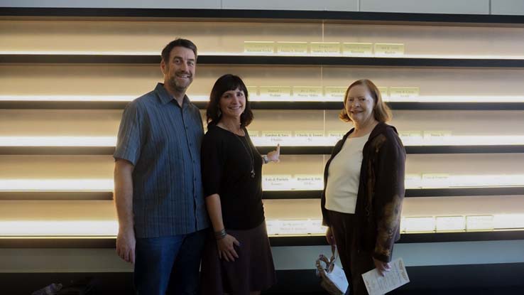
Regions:
<svg viewBox="0 0 524 295"><path fill-rule="evenodd" d="M513 175L447 175L434 174L437 177L428 177L422 174L408 174L406 188L486 188L524 186L524 174ZM300 174L297 176L304 177ZM280 177L263 176L264 191L316 191L323 188L322 176L317 175L320 181L298 181L292 175ZM286 178L283 181L281 179ZM0 179L0 191L113 191L112 178L92 179Z"/></svg>

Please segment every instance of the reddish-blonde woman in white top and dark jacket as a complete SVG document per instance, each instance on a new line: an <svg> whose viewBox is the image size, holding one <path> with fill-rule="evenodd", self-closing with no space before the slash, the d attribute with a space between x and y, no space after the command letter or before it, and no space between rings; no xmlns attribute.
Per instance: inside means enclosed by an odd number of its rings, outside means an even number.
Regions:
<svg viewBox="0 0 524 295"><path fill-rule="evenodd" d="M405 149L395 127L386 124L391 111L370 80L348 87L339 117L353 128L334 146L324 169L322 217L349 294L367 294L361 274L387 272L400 238Z"/></svg>

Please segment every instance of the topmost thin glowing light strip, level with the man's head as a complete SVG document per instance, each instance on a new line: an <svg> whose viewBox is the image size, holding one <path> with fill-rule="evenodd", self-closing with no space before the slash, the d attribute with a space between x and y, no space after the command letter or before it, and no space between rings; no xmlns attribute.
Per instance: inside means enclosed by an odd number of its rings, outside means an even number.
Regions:
<svg viewBox="0 0 524 295"><path fill-rule="evenodd" d="M42 51L23 51L23 50L1 50L0 54L9 55L158 55L158 51L89 51L89 50L42 50ZM222 55L222 56L302 56L302 57L344 57L344 58L447 58L447 59L498 59L498 60L523 60L524 55L437 55L437 54L402 54L402 55L378 55L378 54L355 54L355 55L343 55L343 54L329 54L329 55L318 55L318 54L261 54L261 53L244 53L239 52L206 52L200 53L199 56L206 55Z"/></svg>

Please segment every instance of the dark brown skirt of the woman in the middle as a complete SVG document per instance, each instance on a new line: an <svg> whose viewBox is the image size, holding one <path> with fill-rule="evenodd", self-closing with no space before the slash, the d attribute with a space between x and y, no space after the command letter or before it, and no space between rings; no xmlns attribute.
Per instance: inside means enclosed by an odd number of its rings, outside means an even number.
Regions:
<svg viewBox="0 0 524 295"><path fill-rule="evenodd" d="M227 233L240 242L240 247L235 247L239 258L234 262L219 259L217 242L209 230L202 253L202 294L249 295L250 291L273 286L276 274L266 222L251 230L227 230Z"/></svg>

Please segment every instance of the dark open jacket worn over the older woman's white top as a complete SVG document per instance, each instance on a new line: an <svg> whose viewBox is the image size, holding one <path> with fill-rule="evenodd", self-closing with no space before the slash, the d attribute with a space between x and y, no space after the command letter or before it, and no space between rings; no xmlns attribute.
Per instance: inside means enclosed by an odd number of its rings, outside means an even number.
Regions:
<svg viewBox="0 0 524 295"><path fill-rule="evenodd" d="M329 164L342 149L351 129L334 146L324 168L322 224L330 226L326 186ZM400 239L400 213L404 199L405 148L395 127L378 123L362 151L359 193L356 197L356 245L372 252L375 259L391 261L393 244Z"/></svg>

